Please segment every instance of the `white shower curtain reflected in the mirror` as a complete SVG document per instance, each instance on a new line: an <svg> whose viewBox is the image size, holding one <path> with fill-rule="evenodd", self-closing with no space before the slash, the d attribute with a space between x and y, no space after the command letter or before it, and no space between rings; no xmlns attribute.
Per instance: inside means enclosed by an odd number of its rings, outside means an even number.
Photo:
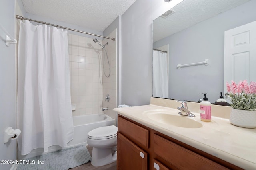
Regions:
<svg viewBox="0 0 256 170"><path fill-rule="evenodd" d="M168 94L167 55L153 50L153 97L168 98Z"/></svg>

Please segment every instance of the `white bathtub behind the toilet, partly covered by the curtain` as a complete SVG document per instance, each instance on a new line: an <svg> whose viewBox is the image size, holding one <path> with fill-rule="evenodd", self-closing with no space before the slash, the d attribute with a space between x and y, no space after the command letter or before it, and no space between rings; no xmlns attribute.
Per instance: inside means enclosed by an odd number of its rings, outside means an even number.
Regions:
<svg viewBox="0 0 256 170"><path fill-rule="evenodd" d="M77 145L87 145L87 133L89 131L97 127L115 125L115 119L112 119L111 117L109 117L108 115L105 115L104 113L82 115L82 116L74 116L73 124L74 124L74 137L73 137L73 140L68 143L68 147L74 147ZM54 145L48 148L48 152L53 152L60 149L62 149L62 147L58 145ZM27 158L41 155L43 151L44 149L38 148L38 149L33 149L27 155L21 155L20 151L18 150L18 160L24 160Z"/></svg>

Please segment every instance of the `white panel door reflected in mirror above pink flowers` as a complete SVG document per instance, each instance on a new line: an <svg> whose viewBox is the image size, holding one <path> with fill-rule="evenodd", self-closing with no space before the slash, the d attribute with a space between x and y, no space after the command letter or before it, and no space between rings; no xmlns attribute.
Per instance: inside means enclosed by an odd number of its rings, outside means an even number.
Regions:
<svg viewBox="0 0 256 170"><path fill-rule="evenodd" d="M225 31L224 93L231 80L256 81L256 21Z"/></svg>

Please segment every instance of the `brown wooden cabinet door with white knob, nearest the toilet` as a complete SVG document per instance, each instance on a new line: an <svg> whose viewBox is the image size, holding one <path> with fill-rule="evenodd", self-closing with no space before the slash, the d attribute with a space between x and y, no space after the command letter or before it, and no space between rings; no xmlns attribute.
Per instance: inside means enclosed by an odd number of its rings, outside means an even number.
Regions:
<svg viewBox="0 0 256 170"><path fill-rule="evenodd" d="M121 133L117 135L117 169L148 169L148 154Z"/></svg>

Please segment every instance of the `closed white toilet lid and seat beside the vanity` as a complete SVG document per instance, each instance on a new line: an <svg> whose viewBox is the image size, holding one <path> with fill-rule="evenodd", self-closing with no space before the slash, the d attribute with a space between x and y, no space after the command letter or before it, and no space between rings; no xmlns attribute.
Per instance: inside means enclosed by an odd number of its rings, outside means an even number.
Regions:
<svg viewBox="0 0 256 170"><path fill-rule="evenodd" d="M90 139L108 139L108 138L116 137L117 127L114 125L98 127L88 132L87 135L88 135L88 138Z"/></svg>

